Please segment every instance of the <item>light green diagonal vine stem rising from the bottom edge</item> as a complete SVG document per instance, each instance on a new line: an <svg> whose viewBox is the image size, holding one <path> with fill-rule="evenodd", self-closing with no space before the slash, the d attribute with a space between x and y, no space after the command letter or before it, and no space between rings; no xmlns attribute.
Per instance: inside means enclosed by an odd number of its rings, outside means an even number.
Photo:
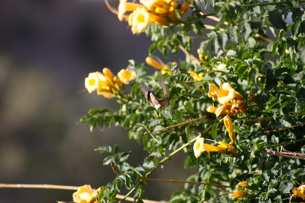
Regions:
<svg viewBox="0 0 305 203"><path fill-rule="evenodd" d="M201 135L205 135L208 131L210 131L210 129L213 128L213 124L206 129L205 131L203 131L203 133ZM185 147L187 147L188 145L192 144L193 142L196 141L197 138L201 137L201 135L198 135L196 138L192 139L190 142L185 143L184 145L182 145L181 147L179 147L178 149L176 149L174 152L170 153L167 157L163 158L158 164L156 164L155 168L152 168L149 172L146 173L145 178L148 177L154 170L156 170L159 166L161 166L162 163L164 163L166 160L170 159L170 157L174 156L175 154L177 154L178 152L180 152L182 149L184 149ZM122 201L124 201L125 198L127 198L131 193L133 193L135 191L135 189L137 189L137 187L139 186L139 184L142 181L140 180L138 183L135 184L135 186L125 195L124 198L122 198L119 203L121 203Z"/></svg>

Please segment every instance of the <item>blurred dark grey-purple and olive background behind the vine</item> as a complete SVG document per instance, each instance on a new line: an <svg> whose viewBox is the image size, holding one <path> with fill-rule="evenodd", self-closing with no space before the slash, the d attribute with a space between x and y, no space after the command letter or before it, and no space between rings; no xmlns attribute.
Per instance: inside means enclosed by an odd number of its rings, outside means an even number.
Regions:
<svg viewBox="0 0 305 203"><path fill-rule="evenodd" d="M94 151L103 145L131 150L129 163L142 164L148 153L124 129L90 133L88 124L76 125L90 108L118 108L115 99L77 91L90 72L107 67L116 75L129 59L145 62L149 45L149 37L133 35L102 0L0 0L0 183L98 188L116 176L102 166L106 155ZM199 43L194 47L196 53ZM178 156L150 178L185 180L195 170L184 169L184 152ZM183 187L147 183L152 200L168 200ZM73 192L0 188L0 203L69 202Z"/></svg>

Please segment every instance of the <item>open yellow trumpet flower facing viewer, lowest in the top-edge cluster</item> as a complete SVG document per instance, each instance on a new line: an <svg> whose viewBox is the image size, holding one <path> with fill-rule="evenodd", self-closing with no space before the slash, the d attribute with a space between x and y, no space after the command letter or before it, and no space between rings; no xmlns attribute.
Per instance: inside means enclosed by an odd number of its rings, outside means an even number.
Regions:
<svg viewBox="0 0 305 203"><path fill-rule="evenodd" d="M169 25L169 22L165 18L157 15L149 15L145 7L137 8L128 18L128 24L131 26L133 34L141 33L149 23L157 23L164 26Z"/></svg>

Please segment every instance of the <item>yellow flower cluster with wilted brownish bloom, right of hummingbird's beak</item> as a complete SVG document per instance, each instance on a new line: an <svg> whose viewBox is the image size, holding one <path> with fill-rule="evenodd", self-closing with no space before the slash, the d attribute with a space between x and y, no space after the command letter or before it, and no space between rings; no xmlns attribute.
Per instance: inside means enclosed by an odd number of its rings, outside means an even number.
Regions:
<svg viewBox="0 0 305 203"><path fill-rule="evenodd" d="M212 97L213 101L218 101L221 104L219 107L209 106L207 108L208 112L216 114L217 117L223 114L236 116L238 111L247 115L245 100L228 82L222 84L221 88L211 84L208 96Z"/></svg>

